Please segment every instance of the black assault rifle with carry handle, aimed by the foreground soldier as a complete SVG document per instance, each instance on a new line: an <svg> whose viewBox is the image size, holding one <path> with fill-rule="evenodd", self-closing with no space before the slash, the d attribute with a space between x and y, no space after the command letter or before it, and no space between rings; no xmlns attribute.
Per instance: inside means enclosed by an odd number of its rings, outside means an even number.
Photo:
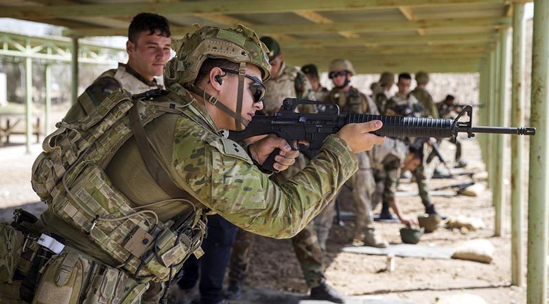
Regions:
<svg viewBox="0 0 549 304"><path fill-rule="evenodd" d="M326 105L326 110L318 114L305 114L296 112L299 105ZM467 114L469 121L458 121ZM229 138L241 141L253 136L265 134L277 134L284 138L290 147L294 147L294 141L306 140L308 145L299 145L298 149L309 156L316 156L322 143L330 134L337 133L344 125L349 123L366 123L368 121L382 121L383 127L372 133L377 136L390 137L434 137L452 138L460 132L467 133L469 138L476 133L491 134L517 134L535 135L534 127L473 127L473 107L470 105L460 112L456 119L423 118L404 116L381 116L370 114L344 114L340 112L338 105L327 105L318 101L305 99L284 99L279 112L274 116L255 116L243 131L230 131ZM464 116L465 117L465 116ZM274 156L279 149L275 149L264 162L266 170L274 171Z"/></svg>

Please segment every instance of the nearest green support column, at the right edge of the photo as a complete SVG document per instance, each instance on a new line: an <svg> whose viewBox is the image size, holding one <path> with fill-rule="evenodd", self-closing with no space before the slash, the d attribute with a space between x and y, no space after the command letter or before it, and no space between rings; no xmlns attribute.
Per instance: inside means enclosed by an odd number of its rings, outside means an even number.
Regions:
<svg viewBox="0 0 549 304"><path fill-rule="evenodd" d="M528 186L528 304L547 304L547 238L549 203L549 0L534 1L532 39L532 87L530 125L537 127L530 138Z"/></svg>

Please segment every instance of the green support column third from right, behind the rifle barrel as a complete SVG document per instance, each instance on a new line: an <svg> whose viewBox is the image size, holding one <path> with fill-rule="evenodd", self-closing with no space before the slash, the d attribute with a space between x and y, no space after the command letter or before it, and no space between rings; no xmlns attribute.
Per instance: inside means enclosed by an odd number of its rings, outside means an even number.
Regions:
<svg viewBox="0 0 549 304"><path fill-rule="evenodd" d="M507 81L509 80L507 73L507 58L509 58L509 29L502 29L500 41L500 77L498 81L499 86L499 99L498 99L498 113L497 113L497 125L499 127L506 127L509 124L509 97L507 93ZM497 140L495 149L498 155L495 158L495 178L494 188L492 192L492 201L495 207L495 223L494 223L494 236L502 236L504 229L504 216L505 216L505 157L507 155L507 136L496 135Z"/></svg>

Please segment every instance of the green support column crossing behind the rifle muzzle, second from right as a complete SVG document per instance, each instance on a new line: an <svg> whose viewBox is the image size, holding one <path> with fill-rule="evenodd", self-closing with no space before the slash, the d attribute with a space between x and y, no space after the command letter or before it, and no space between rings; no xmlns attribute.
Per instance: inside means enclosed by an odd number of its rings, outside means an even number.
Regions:
<svg viewBox="0 0 549 304"><path fill-rule="evenodd" d="M511 74L511 125L524 125L524 50L526 45L524 29L524 3L513 5L513 64ZM522 285L522 136L511 136L511 284Z"/></svg>

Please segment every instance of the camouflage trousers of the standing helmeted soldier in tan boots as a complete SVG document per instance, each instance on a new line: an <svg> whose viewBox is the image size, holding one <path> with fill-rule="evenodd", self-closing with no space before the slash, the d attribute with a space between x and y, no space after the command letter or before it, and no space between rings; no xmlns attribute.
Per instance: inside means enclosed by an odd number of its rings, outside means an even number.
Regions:
<svg viewBox="0 0 549 304"><path fill-rule="evenodd" d="M375 180L371 160L367 152L356 154L358 171L347 181L353 188L355 201L355 231L353 239L362 240L366 228L373 227L373 197L375 194ZM337 199L338 195L336 195ZM334 223L334 210L336 199L331 201L314 219L315 229L318 234L318 242L321 248L325 248L329 229Z"/></svg>

